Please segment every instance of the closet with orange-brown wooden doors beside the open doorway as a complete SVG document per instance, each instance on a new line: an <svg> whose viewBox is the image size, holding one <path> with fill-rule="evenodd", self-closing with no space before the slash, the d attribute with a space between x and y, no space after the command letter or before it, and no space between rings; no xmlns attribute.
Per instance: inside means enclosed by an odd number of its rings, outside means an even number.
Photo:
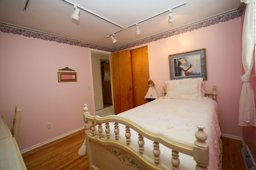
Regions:
<svg viewBox="0 0 256 170"><path fill-rule="evenodd" d="M110 57L115 114L147 103L148 47L120 51Z"/></svg>

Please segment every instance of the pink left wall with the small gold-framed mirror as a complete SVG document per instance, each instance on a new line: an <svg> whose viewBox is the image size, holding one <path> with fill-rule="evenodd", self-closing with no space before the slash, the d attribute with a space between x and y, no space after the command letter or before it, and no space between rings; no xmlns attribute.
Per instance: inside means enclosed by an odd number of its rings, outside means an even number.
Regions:
<svg viewBox="0 0 256 170"><path fill-rule="evenodd" d="M11 129L15 105L22 109L20 150L84 126L83 104L93 108L89 49L0 32L0 54L0 115ZM78 82L58 82L66 66Z"/></svg>

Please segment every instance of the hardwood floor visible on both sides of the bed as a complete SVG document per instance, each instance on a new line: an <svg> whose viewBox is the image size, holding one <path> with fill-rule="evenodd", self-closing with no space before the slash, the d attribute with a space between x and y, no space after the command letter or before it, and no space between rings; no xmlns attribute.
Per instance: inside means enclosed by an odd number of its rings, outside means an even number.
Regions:
<svg viewBox="0 0 256 170"><path fill-rule="evenodd" d="M88 170L87 156L78 155L84 130L68 135L22 154L28 170ZM222 170L245 170L240 149L242 141L222 137Z"/></svg>

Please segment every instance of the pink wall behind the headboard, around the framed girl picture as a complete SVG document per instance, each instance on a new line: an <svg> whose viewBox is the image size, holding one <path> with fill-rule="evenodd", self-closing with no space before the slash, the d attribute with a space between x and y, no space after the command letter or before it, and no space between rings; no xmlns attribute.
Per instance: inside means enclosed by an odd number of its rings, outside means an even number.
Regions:
<svg viewBox="0 0 256 170"><path fill-rule="evenodd" d="M238 126L238 105L242 87L240 18L148 43L150 78L161 94L170 80L168 55L206 48L208 80L205 89L217 88L222 133L242 137Z"/></svg>

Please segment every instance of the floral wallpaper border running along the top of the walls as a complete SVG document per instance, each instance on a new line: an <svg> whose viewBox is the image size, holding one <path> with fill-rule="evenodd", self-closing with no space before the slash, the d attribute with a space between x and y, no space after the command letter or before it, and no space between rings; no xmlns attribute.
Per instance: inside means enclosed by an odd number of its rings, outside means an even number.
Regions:
<svg viewBox="0 0 256 170"><path fill-rule="evenodd" d="M90 49L97 49L97 50L101 50L101 51L107 51L110 53L114 53L116 51L122 51L125 49L136 47L138 45L150 43L152 41L158 41L160 39L172 37L174 35L180 35L182 33L188 32L188 31L194 31L194 30L197 30L197 29L200 29L203 27L208 27L208 26L217 24L217 23L234 20L235 18L239 18L242 15L245 7L246 7L246 5L243 3L241 8L234 9L234 10L231 10L228 12L224 12L222 14L218 14L216 16L212 16L212 17L206 18L204 20L196 21L194 23L190 23L190 24L184 25L182 27L171 29L169 31L159 33L157 35L152 35L150 37L147 37L147 38L144 38L144 39L141 39L138 41L134 41L134 42L128 43L126 45L121 45L116 48L104 47L104 46L88 43L85 41L79 41L76 39L70 39L70 38L59 36L59 35L44 33L41 31L36 31L33 29L28 29L25 27L20 27L20 26L16 26L16 25L4 23L4 22L0 22L0 31L4 32L4 33L12 33L12 34L17 34L17 35L23 35L25 37L32 37L32 38L42 39L42 40L46 40L46 41L54 41L57 43L76 45L76 46L80 46L80 47L86 47L86 48L90 48Z"/></svg>

